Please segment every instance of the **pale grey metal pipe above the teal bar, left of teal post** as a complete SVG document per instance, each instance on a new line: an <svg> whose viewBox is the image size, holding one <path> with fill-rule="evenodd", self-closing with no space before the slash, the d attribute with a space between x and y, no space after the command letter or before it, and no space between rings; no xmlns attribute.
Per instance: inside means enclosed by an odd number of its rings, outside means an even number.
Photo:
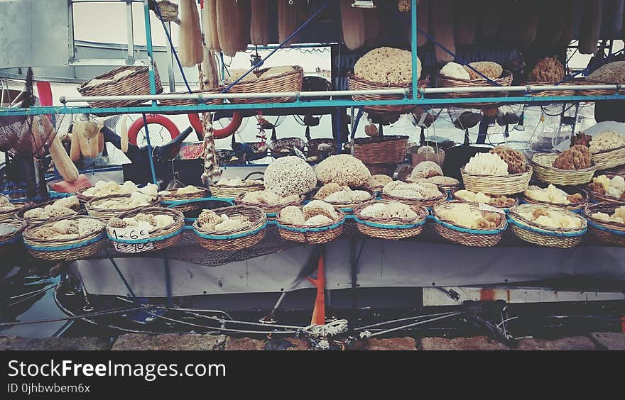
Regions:
<svg viewBox="0 0 625 400"><path fill-rule="evenodd" d="M408 94L408 89L379 89L379 90L332 90L332 91L278 91L271 93L196 93L196 94L155 94L140 96L61 96L62 104L77 103L80 101L152 101L152 100L210 100L210 99L269 99L273 97L317 97L317 96L352 96L365 94Z"/></svg>

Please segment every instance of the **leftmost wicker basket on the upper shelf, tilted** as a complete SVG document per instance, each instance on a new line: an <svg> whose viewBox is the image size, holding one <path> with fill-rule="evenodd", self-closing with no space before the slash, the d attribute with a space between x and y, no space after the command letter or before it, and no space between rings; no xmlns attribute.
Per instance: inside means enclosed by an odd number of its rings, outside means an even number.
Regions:
<svg viewBox="0 0 625 400"><path fill-rule="evenodd" d="M131 71L132 73L119 79L112 79L115 74L126 71ZM107 79L107 82L89 86L89 82L92 82L94 79ZM156 64L154 65L154 79L156 80L156 94L163 93L163 85L161 84L161 77L158 76ZM131 96L151 94L149 68L124 65L106 74L89 79L87 82L81 84L77 90L82 96ZM96 109L103 109L110 107L134 107L140 106L142 103L142 100L89 101L89 106Z"/></svg>

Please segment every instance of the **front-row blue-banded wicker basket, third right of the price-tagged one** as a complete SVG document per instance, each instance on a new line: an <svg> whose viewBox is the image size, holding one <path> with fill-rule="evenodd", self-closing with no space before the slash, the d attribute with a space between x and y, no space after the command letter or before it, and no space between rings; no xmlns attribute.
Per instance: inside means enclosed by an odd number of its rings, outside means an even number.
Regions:
<svg viewBox="0 0 625 400"><path fill-rule="evenodd" d="M390 200L382 200L379 203L388 204ZM423 232L425 226L425 218L428 216L428 210L425 207L410 206L417 214L415 218L376 218L363 216L362 210L366 207L376 204L374 201L364 203L354 209L354 220L358 230L364 235L371 238L379 238L386 240L400 240L404 238L412 238Z"/></svg>

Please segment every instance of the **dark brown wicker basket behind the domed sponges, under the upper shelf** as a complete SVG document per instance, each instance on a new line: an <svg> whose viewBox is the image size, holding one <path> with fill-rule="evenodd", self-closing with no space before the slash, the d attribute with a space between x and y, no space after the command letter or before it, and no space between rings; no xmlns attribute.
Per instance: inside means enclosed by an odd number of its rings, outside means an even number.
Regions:
<svg viewBox="0 0 625 400"><path fill-rule="evenodd" d="M401 164L406 161L408 136L382 135L354 140L354 157L364 164Z"/></svg>

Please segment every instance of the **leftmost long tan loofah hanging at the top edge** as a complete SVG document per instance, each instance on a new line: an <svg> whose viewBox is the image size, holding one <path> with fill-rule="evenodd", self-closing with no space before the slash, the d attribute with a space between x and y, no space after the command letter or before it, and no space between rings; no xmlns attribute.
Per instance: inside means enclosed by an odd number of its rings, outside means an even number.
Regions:
<svg viewBox="0 0 625 400"><path fill-rule="evenodd" d="M204 57L200 13L197 12L195 0L180 0L178 56L183 67L200 64Z"/></svg>

